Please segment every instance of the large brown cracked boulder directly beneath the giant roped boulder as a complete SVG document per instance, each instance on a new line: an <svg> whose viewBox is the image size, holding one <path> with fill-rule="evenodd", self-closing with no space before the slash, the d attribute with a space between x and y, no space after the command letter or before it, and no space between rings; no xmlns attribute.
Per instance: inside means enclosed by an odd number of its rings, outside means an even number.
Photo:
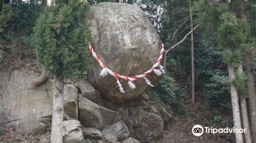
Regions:
<svg viewBox="0 0 256 143"><path fill-rule="evenodd" d="M150 106L118 107L121 120L129 129L131 137L140 142L148 142L163 133L163 119L150 110Z"/></svg>

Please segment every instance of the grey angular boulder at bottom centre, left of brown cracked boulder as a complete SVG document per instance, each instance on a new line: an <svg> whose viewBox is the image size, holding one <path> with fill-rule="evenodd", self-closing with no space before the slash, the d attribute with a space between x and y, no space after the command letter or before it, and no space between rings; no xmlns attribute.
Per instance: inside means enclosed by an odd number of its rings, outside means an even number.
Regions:
<svg viewBox="0 0 256 143"><path fill-rule="evenodd" d="M119 121L113 125L110 125L102 130L102 135L108 141L120 141L130 136L128 128Z"/></svg>

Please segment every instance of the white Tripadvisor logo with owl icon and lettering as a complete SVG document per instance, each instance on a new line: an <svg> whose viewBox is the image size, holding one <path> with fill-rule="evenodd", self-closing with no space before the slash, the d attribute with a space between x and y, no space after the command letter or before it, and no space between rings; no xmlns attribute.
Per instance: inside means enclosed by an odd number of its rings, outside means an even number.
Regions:
<svg viewBox="0 0 256 143"><path fill-rule="evenodd" d="M212 127L202 127L201 125L195 125L192 128L192 133L195 136L201 136L204 132L205 133L245 133L246 129L237 129L237 128L212 128Z"/></svg>

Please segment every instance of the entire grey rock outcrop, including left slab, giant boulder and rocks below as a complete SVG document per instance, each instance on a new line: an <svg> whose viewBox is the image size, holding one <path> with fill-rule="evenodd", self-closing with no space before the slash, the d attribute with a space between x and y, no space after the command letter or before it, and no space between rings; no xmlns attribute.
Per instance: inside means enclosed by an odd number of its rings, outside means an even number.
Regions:
<svg viewBox="0 0 256 143"><path fill-rule="evenodd" d="M100 3L88 13L94 50L110 69L120 75L144 73L157 61L161 41L146 14L138 7L120 3ZM0 55L1 61L1 55ZM161 61L164 65L165 57ZM149 101L150 88L144 79L130 89L120 80L100 77L100 66L93 61L88 80L66 79L64 88L64 142L148 142L163 132L170 114L158 103ZM35 87L39 74L23 71L0 72L0 125L16 132L42 133L52 116L53 82ZM161 76L148 74L156 85ZM79 121L78 121L79 120ZM82 128L83 127L83 128ZM136 138L136 139L135 139ZM49 137L42 142L48 142Z"/></svg>

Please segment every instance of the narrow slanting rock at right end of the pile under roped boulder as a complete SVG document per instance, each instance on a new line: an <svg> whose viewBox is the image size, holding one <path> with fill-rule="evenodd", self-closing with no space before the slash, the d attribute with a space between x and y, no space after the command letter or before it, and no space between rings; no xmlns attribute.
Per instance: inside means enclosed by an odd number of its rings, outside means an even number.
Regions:
<svg viewBox="0 0 256 143"><path fill-rule="evenodd" d="M155 101L148 101L148 103L155 107L155 109L160 113L160 116L163 118L164 122L170 120L172 115L170 115L161 104Z"/></svg>

